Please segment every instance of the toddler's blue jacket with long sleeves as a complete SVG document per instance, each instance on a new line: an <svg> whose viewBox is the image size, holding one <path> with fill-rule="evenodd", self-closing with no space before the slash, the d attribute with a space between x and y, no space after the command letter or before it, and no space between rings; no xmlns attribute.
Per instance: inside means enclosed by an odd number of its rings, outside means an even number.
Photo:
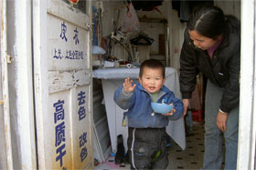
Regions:
<svg viewBox="0 0 256 170"><path fill-rule="evenodd" d="M183 103L176 98L174 93L165 85L162 86L157 97L157 103L162 103L165 100L166 104L173 103L176 112L174 115L154 114L151 108L152 96L139 83L135 83L131 95L123 94L123 85L121 85L114 93L113 100L123 110L124 116L128 116L128 126L135 128L162 128L168 125L170 120L177 120L183 114Z"/></svg>

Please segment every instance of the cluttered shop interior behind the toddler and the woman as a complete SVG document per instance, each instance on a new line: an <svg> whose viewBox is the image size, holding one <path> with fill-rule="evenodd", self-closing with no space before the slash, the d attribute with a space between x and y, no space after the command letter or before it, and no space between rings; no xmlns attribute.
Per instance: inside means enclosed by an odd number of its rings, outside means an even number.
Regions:
<svg viewBox="0 0 256 170"><path fill-rule="evenodd" d="M179 56L190 12L197 5L217 5L226 15L240 19L240 1L115 1L93 2L93 120L95 169L129 169L123 161L115 164L117 136L123 135L127 151L127 127L123 110L114 104L114 90L125 77L138 79L138 66L146 59L161 61L166 69L165 85L181 98ZM129 16L127 16L127 14ZM130 17L131 16L131 17ZM187 116L169 125L181 126L170 136L167 169L199 169L204 154L205 78L197 76ZM224 144L223 144L224 145ZM224 165L224 163L222 163Z"/></svg>

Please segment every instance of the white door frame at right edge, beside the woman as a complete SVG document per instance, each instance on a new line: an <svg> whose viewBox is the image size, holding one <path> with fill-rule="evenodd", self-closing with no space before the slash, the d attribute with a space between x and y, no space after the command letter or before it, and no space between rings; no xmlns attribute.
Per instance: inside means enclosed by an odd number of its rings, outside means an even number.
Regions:
<svg viewBox="0 0 256 170"><path fill-rule="evenodd" d="M255 0L241 1L240 126L237 169L251 170L254 169L256 133L255 12Z"/></svg>

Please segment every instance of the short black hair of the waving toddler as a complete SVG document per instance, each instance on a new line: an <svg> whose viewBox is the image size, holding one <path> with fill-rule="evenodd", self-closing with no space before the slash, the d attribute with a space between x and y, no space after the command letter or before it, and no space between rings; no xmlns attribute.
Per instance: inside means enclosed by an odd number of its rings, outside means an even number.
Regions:
<svg viewBox="0 0 256 170"><path fill-rule="evenodd" d="M144 67L161 69L163 78L165 78L165 65L163 65L159 60L155 60L155 59L145 60L140 66L140 74L139 74L140 77L142 77L144 74Z"/></svg>

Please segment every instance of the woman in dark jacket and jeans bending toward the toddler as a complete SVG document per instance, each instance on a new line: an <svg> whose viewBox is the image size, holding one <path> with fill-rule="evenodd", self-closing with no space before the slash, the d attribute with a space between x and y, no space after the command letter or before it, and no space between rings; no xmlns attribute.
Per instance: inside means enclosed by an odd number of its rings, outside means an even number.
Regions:
<svg viewBox="0 0 256 170"><path fill-rule="evenodd" d="M197 74L208 78L203 169L220 169L222 135L225 169L236 169L240 98L240 21L216 6L193 11L180 55L180 87L184 115Z"/></svg>

